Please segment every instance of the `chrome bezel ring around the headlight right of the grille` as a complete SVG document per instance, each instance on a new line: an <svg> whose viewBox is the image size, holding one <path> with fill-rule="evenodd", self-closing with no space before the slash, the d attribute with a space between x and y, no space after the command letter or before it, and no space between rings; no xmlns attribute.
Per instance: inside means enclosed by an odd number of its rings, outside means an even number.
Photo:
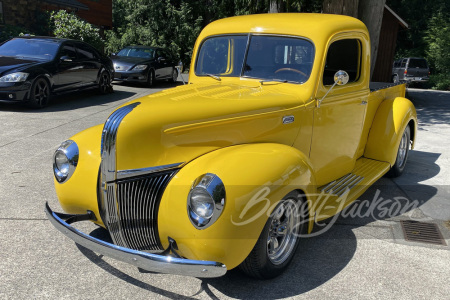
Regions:
<svg viewBox="0 0 450 300"><path fill-rule="evenodd" d="M212 213L210 216L200 216L196 213L195 206L193 204L193 197L196 193L204 193L210 197L213 204ZM226 202L225 185L222 180L216 174L206 173L199 176L192 184L191 190L187 199L187 212L189 220L195 228L202 230L206 229L214 224L217 219L222 215Z"/></svg>

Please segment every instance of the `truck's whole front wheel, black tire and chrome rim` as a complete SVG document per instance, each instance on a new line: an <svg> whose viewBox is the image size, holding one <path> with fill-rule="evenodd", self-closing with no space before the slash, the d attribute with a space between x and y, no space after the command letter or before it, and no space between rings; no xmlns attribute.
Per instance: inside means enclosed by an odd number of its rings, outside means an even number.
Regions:
<svg viewBox="0 0 450 300"><path fill-rule="evenodd" d="M286 195L276 206L248 257L239 268L260 279L274 278L289 266L306 228L297 192Z"/></svg>

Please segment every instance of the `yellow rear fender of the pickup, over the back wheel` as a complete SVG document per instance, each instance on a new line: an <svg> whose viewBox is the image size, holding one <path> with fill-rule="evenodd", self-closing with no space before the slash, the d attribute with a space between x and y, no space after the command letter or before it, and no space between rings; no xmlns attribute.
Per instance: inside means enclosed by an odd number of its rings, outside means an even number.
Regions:
<svg viewBox="0 0 450 300"><path fill-rule="evenodd" d="M403 97L384 100L375 114L364 156L389 162L393 166L406 126L411 127L413 148L417 132L417 113L414 105Z"/></svg>

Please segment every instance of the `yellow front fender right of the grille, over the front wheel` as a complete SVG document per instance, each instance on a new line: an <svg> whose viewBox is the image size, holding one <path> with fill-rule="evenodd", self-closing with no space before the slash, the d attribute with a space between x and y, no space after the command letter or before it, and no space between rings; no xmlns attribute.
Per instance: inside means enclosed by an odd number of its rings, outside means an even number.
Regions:
<svg viewBox="0 0 450 300"><path fill-rule="evenodd" d="M218 175L226 190L219 219L198 230L190 222L187 197L194 180ZM207 153L186 164L168 184L161 199L158 230L166 248L176 240L180 254L238 266L253 249L275 205L293 190L314 194L315 179L308 158L281 144L246 144Z"/></svg>

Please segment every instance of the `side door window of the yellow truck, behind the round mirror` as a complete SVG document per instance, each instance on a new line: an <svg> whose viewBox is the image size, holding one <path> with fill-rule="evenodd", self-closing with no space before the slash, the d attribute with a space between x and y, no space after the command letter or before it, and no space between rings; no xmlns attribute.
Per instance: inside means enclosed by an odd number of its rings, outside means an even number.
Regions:
<svg viewBox="0 0 450 300"><path fill-rule="evenodd" d="M348 82L356 82L361 74L361 42L357 39L339 40L328 49L323 84L332 85L334 74L344 70L349 75Z"/></svg>

